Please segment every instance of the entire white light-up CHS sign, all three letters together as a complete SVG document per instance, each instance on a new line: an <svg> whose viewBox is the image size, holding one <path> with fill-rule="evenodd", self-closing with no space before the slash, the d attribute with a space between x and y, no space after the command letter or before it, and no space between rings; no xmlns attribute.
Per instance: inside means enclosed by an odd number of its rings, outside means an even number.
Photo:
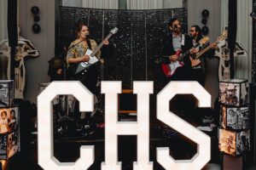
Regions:
<svg viewBox="0 0 256 170"><path fill-rule="evenodd" d="M118 121L118 94L121 82L102 82L105 94L105 162L102 170L120 170L118 161L118 135L137 135L137 161L134 170L153 170L149 161L149 94L153 94L153 82L134 82L133 92L137 94L137 122ZM80 111L93 111L93 94L80 82L52 82L38 95L38 163L45 170L84 170L95 161L94 146L81 146L76 162L62 163L54 157L53 120L51 100L56 95L73 94L80 102ZM188 122L169 111L169 101L176 94L194 94L200 107L211 106L211 95L198 82L170 82L157 94L157 119L193 140L197 154L191 160L174 160L169 148L156 148L157 161L167 170L199 170L211 158L210 138ZM45 126L48 125L48 126Z"/></svg>

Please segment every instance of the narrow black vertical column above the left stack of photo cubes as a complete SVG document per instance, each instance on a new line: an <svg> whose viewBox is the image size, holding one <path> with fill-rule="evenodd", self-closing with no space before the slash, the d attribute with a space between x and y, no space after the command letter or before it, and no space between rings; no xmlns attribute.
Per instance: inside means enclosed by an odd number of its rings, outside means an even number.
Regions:
<svg viewBox="0 0 256 170"><path fill-rule="evenodd" d="M17 36L17 0L8 0L8 38L11 48L10 78L15 79L15 48L18 43Z"/></svg>

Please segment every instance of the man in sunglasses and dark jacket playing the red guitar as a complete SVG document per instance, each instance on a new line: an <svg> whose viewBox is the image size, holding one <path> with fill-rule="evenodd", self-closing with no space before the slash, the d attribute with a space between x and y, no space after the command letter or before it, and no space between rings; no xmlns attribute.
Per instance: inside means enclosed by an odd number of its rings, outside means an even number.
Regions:
<svg viewBox="0 0 256 170"><path fill-rule="evenodd" d="M178 51L184 53L193 47L192 39L188 35L184 35L182 33L182 26L177 18L173 18L169 21L168 29L171 31L171 34L167 35L163 39L160 49L160 57L169 56L166 63L162 64L162 71L165 74L164 84L171 80L189 80L189 70L191 69L189 56L184 57L184 59L180 62L180 64L183 66L177 67L177 70L172 75L172 65L170 65L170 63L178 61ZM194 53L194 49L191 49L190 53Z"/></svg>

